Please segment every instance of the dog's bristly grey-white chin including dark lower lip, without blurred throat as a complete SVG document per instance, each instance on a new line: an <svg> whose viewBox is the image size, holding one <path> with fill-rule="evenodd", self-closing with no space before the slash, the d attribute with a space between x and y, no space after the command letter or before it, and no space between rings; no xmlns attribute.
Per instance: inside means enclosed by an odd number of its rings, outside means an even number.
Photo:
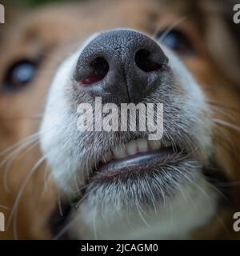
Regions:
<svg viewBox="0 0 240 256"><path fill-rule="evenodd" d="M105 211L154 209L181 193L201 173L200 162L172 146L100 162L80 202Z"/></svg>

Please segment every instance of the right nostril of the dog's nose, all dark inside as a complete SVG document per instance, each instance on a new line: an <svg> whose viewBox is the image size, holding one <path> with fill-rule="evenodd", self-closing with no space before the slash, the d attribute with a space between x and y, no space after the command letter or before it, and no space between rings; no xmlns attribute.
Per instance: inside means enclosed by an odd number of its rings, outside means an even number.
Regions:
<svg viewBox="0 0 240 256"><path fill-rule="evenodd" d="M135 63L141 70L145 72L153 72L160 70L162 65L152 61L150 57L151 53L149 50L140 49L135 54Z"/></svg>

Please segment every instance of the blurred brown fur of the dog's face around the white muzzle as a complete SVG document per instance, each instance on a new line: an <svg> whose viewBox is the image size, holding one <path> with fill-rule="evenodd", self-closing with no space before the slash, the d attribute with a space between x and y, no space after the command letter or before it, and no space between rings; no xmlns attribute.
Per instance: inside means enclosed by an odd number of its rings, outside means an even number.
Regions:
<svg viewBox="0 0 240 256"><path fill-rule="evenodd" d="M9 67L19 59L38 59L39 67L36 78L29 86L16 94L0 94L0 150L38 130L39 120L34 116L42 113L54 70L69 50L79 45L79 38L82 42L95 31L115 27L130 27L154 34L158 26L166 29L186 16L186 20L178 25L178 30L190 38L197 54L183 61L206 92L215 118L233 124L227 127L216 121L214 129L216 161L229 178L230 183L226 186L232 197L226 206L219 207L213 222L196 230L194 238L240 238L232 228L233 214L240 211L240 52L238 38L234 34L238 27L230 20L224 3L105 0L46 7L15 18L7 16L6 26L1 26L0 84L4 82ZM230 2L227 7L232 9ZM1 166L2 206L14 206L29 170L41 157L37 146L24 155L22 153L24 150L10 166ZM6 155L1 155L1 161ZM48 224L58 202L58 193L53 182L48 182L46 190L43 189L45 172L46 166L42 164L28 180L18 212L15 212L9 229L0 233L0 238L14 238L14 232L21 239L51 238ZM11 210L1 206L0 210L7 221ZM14 222L17 223L15 228Z"/></svg>

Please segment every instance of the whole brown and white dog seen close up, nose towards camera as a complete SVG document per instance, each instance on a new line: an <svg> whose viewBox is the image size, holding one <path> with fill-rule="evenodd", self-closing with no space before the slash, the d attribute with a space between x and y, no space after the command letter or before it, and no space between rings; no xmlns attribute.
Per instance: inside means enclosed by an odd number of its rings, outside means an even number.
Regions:
<svg viewBox="0 0 240 256"><path fill-rule="evenodd" d="M6 14L1 238L239 238L233 6L91 0ZM162 103L162 139L78 130L79 104L98 97Z"/></svg>

